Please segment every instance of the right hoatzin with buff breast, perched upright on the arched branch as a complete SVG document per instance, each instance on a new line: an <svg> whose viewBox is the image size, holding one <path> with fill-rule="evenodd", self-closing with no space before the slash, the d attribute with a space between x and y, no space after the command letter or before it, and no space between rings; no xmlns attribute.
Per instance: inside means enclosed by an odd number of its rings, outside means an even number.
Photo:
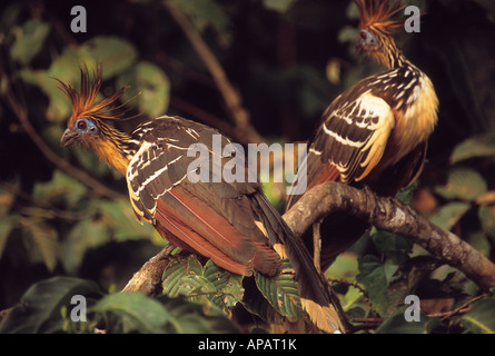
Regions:
<svg viewBox="0 0 495 356"><path fill-rule="evenodd" d="M358 81L325 110L309 140L307 169L297 174L294 185L301 178L307 178L308 189L339 181L394 196L423 169L427 140L437 122L438 99L429 78L404 57L393 38L392 30L404 23L392 20L404 9L400 2L355 3L360 14L356 51L388 70ZM299 198L289 195L287 209ZM314 250L315 261L319 259L317 269L325 270L369 226L349 215L334 214L320 227L318 244L314 241L318 235L310 231L303 238Z"/></svg>

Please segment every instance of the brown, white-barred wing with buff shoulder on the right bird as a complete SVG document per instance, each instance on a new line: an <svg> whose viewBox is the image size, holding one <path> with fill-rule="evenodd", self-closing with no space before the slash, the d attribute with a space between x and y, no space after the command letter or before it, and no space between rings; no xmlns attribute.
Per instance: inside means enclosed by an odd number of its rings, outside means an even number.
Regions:
<svg viewBox="0 0 495 356"><path fill-rule="evenodd" d="M363 180L380 161L394 127L394 112L384 99L370 90L344 93L324 112L295 184L305 178L310 189L324 181ZM289 196L287 206L297 199Z"/></svg>

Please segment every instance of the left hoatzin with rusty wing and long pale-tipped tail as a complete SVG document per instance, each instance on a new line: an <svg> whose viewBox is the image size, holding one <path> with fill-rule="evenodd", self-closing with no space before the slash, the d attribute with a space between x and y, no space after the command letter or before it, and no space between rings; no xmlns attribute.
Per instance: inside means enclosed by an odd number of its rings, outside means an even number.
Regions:
<svg viewBox="0 0 495 356"><path fill-rule="evenodd" d="M301 305L313 323L328 333L344 332L327 284L308 250L257 182L247 182L247 176L246 182L218 177L196 182L189 179L188 167L196 157L189 157L188 149L202 144L209 164L221 166L210 167L215 174L232 159L232 155L219 157L230 142L227 137L205 125L168 116L146 120L130 132L117 129L111 122L123 119L123 115L115 102L127 87L96 102L101 66L92 82L88 69L81 69L80 95L69 85L59 85L72 102L61 145L92 149L123 175L139 221L152 224L174 246L210 258L234 274L250 276L257 270L274 276L280 271L281 258L288 257ZM221 137L220 154L212 148L215 136Z"/></svg>

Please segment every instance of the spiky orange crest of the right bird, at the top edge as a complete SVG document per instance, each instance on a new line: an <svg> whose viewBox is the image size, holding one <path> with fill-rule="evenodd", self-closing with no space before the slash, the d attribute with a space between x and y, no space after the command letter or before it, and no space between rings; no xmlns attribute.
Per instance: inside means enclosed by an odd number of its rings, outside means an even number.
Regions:
<svg viewBox="0 0 495 356"><path fill-rule="evenodd" d="M399 0L354 0L358 10L363 29L375 29L389 33L390 29L404 26L403 20L392 20L405 9Z"/></svg>

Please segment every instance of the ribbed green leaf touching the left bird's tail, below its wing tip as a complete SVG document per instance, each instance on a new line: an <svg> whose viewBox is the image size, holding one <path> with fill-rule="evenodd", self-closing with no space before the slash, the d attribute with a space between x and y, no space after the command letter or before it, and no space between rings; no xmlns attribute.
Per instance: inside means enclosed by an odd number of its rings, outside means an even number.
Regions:
<svg viewBox="0 0 495 356"><path fill-rule="evenodd" d="M287 265L287 263L285 263ZM281 273L273 277L255 271L255 280L261 294L275 310L285 316L304 316L294 274Z"/></svg>

